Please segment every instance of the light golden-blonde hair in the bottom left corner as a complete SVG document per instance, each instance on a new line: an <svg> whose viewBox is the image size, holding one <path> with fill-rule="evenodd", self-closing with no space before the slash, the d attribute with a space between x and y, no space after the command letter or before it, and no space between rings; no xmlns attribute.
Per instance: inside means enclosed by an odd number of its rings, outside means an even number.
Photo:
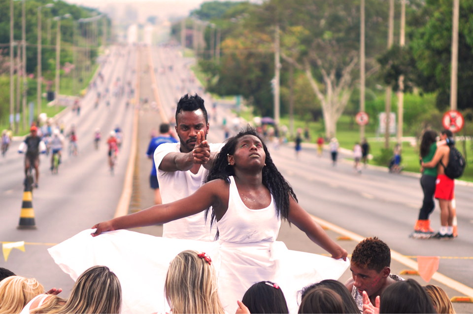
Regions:
<svg viewBox="0 0 473 314"><path fill-rule="evenodd" d="M20 313L31 299L42 293L43 286L34 278L7 277L0 282L0 313Z"/></svg>

